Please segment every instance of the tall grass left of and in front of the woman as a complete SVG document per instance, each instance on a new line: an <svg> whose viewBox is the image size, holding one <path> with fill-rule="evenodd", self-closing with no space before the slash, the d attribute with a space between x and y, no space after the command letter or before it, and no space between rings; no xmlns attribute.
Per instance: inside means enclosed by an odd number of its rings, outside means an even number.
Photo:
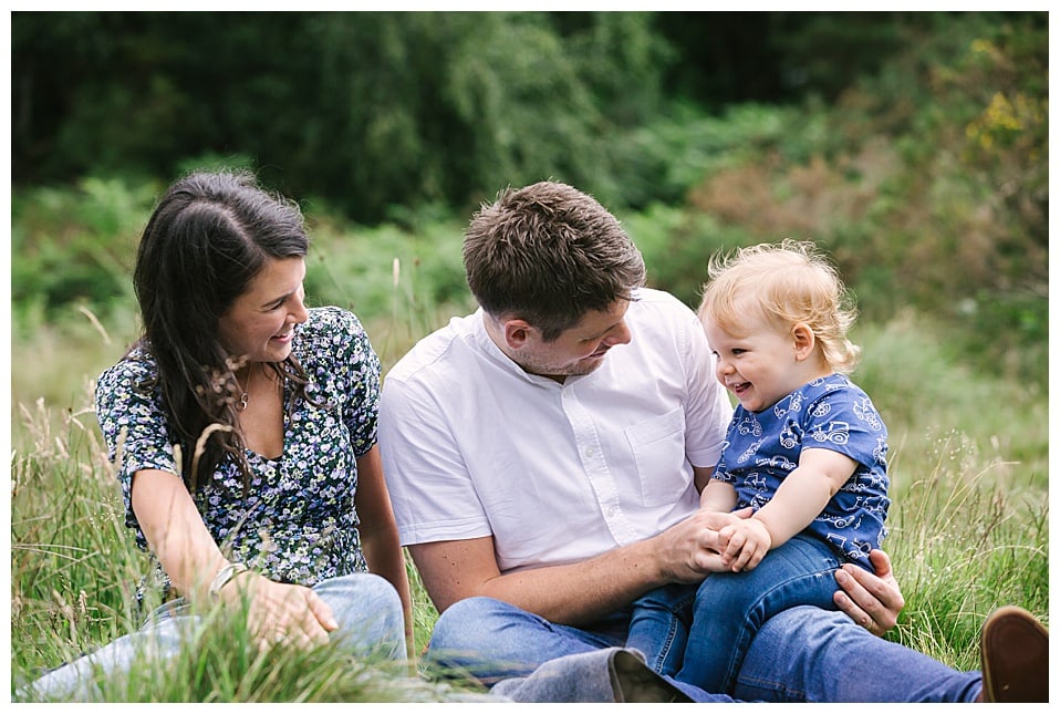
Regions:
<svg viewBox="0 0 1060 714"><path fill-rule="evenodd" d="M84 400L90 399L87 394ZM85 402L86 404L87 402ZM56 427L58 425L58 427ZM139 628L135 586L150 566L124 525L121 489L87 406L58 414L22 405L11 478L12 686ZM415 575L411 572L411 575ZM416 646L436 617L417 587ZM351 702L460 697L459 682L428 682L336 648L258 653L246 621L201 613L193 646L127 676L98 676L96 701ZM147 662L146 658L144 662Z"/></svg>

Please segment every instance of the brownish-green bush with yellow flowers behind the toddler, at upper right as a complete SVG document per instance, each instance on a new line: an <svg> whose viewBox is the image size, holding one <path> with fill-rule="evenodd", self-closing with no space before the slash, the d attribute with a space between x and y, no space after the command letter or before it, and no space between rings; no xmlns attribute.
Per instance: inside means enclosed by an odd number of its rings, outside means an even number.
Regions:
<svg viewBox="0 0 1060 714"><path fill-rule="evenodd" d="M730 247L815 240L866 318L913 306L960 327L980 366L1045 383L1047 23L958 13L946 32L912 31L834 107L778 113L796 121L754 151L718 143L687 199L717 225L676 230L662 255L725 234Z"/></svg>

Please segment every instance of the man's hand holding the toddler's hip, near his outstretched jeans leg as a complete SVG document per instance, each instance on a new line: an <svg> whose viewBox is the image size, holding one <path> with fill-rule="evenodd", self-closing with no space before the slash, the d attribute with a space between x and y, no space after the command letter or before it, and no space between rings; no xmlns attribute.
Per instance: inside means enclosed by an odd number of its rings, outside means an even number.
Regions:
<svg viewBox="0 0 1060 714"><path fill-rule="evenodd" d="M832 599L851 620L873 634L882 635L897 623L905 599L894 579L887 553L873 550L869 560L876 575L852 563L835 571L835 581L842 590L838 590Z"/></svg>

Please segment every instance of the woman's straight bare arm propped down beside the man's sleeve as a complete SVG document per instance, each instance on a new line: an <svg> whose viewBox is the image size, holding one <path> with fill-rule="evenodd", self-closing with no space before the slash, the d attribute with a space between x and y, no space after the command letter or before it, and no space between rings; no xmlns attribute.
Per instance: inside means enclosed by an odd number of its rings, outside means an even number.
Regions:
<svg viewBox="0 0 1060 714"><path fill-rule="evenodd" d="M373 446L357 459L357 493L354 496L361 518L361 547L368 570L389 580L402 598L405 611L405 637L413 652L413 606L405 556L397 536L397 522L383 478L380 447Z"/></svg>

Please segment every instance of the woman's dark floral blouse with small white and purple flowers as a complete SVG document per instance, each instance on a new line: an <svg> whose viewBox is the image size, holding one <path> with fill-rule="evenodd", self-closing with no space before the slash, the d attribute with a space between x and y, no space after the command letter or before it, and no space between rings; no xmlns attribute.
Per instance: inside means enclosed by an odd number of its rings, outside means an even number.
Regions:
<svg viewBox="0 0 1060 714"><path fill-rule="evenodd" d="M239 468L228 458L194 497L227 557L273 580L304 586L367 570L353 497L356 458L376 441L381 381L378 358L353 313L315 308L309 315L295 328L293 352L309 375L306 393L333 406L300 400L292 410L294 392L287 384L283 454L269 459L247 452L252 477L246 495ZM179 473L160 391L139 386L156 375L154 358L136 348L96 386L96 413L122 483L125 524L144 549L131 505L133 474Z"/></svg>

